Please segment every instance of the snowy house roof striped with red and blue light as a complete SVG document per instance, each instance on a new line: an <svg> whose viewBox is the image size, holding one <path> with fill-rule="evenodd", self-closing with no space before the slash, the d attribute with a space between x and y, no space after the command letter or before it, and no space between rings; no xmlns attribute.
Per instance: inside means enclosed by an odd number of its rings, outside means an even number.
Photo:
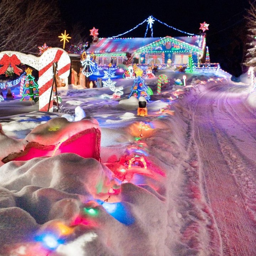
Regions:
<svg viewBox="0 0 256 256"><path fill-rule="evenodd" d="M111 52L135 52L138 49L149 46L150 44L161 41L165 38L177 39L177 42L191 44L199 47L199 36L193 37L146 37L146 38L99 38L97 44L91 44L86 53L111 53ZM202 47L202 46L201 46ZM199 48L201 48L199 47Z"/></svg>

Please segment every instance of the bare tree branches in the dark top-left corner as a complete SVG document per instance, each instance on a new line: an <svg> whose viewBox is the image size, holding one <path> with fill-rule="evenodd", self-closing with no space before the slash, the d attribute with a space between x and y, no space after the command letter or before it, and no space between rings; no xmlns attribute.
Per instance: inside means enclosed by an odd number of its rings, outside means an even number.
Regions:
<svg viewBox="0 0 256 256"><path fill-rule="evenodd" d="M57 0L1 0L0 52L38 53L38 46L44 42L56 42L57 6Z"/></svg>

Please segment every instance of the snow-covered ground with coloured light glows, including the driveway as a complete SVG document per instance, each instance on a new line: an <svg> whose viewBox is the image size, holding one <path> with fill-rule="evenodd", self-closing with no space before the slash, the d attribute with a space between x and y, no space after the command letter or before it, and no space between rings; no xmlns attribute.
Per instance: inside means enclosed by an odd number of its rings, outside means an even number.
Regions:
<svg viewBox="0 0 256 256"><path fill-rule="evenodd" d="M64 153L1 163L0 255L256 255L256 106L247 75L234 83L223 71L188 74L184 87L174 85L182 73L162 73L170 83L161 95L157 78L146 79L154 92L146 117L119 104L133 84L125 79L117 80L120 99L104 99L109 88L62 89L59 113L0 102L1 160L33 138L46 143L43 124L55 118L64 129L58 117L71 119L77 106L101 130L101 162ZM69 127L78 133L86 118Z"/></svg>

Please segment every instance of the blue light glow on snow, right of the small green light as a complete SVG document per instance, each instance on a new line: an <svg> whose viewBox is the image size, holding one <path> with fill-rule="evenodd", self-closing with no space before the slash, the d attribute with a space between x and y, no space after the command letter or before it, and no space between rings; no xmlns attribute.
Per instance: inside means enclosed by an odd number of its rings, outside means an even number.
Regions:
<svg viewBox="0 0 256 256"><path fill-rule="evenodd" d="M128 207L123 202L107 203L97 200L103 206L107 213L119 222L129 226L134 223L134 218L130 213Z"/></svg>

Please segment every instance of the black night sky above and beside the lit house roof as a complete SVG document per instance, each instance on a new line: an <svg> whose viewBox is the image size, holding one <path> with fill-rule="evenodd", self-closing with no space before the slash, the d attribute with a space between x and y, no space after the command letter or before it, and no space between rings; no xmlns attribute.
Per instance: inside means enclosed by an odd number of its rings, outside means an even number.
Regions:
<svg viewBox="0 0 256 256"><path fill-rule="evenodd" d="M239 76L244 67L240 63L246 53L246 9L248 0L187 0L187 1L107 1L60 0L62 18L67 33L77 37L89 36L92 27L99 37L111 37L126 32L150 15L179 30L199 34L200 23L209 23L207 45L211 62L219 62L229 73ZM72 4L71 4L72 3ZM123 37L144 37L144 23ZM72 34L75 33L75 35ZM155 21L153 36L186 36ZM151 33L148 31L147 37Z"/></svg>

